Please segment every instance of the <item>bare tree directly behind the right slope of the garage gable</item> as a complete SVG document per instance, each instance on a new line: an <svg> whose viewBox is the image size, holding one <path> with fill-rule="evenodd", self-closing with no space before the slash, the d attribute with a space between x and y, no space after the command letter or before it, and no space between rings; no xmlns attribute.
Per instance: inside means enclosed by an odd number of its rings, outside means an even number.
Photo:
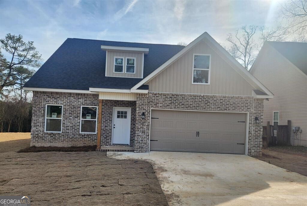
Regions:
<svg viewBox="0 0 307 206"><path fill-rule="evenodd" d="M254 42L256 30L257 26L254 25L243 26L240 34L238 29L235 31L235 37L229 33L226 39L231 44L226 50L247 70L249 70L256 58L257 44Z"/></svg>

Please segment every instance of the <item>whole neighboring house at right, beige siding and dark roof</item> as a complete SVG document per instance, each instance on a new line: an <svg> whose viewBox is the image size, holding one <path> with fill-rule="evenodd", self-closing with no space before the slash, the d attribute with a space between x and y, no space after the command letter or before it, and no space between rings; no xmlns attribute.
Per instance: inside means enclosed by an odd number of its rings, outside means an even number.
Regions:
<svg viewBox="0 0 307 206"><path fill-rule="evenodd" d="M293 134L291 144L307 146L307 43L265 42L251 74L273 94L264 101L263 124L300 127Z"/></svg>

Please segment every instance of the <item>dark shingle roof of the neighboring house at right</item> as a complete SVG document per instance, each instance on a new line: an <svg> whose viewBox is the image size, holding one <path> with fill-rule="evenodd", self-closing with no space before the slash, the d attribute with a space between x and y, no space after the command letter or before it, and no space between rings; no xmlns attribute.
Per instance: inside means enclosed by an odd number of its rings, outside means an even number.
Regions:
<svg viewBox="0 0 307 206"><path fill-rule="evenodd" d="M279 53L307 75L307 43L268 42Z"/></svg>

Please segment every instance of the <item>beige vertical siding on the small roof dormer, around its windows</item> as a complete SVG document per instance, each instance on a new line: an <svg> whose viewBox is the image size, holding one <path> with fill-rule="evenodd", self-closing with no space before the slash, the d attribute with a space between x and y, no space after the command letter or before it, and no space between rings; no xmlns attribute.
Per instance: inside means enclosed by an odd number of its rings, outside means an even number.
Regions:
<svg viewBox="0 0 307 206"><path fill-rule="evenodd" d="M106 76L143 78L143 53L107 51L106 55ZM135 57L135 74L125 73L125 64L124 73L114 73L114 57L124 57L124 61L126 57Z"/></svg>

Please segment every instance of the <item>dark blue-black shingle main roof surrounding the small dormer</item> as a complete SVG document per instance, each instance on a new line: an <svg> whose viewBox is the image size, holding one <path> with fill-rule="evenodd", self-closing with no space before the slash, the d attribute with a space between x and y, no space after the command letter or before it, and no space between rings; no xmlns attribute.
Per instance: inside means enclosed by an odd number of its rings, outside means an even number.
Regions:
<svg viewBox="0 0 307 206"><path fill-rule="evenodd" d="M68 38L25 87L71 90L89 90L89 87L131 89L142 80L106 77L106 51L101 50L101 45L149 48L149 54L144 55L144 78L184 48L179 45Z"/></svg>

